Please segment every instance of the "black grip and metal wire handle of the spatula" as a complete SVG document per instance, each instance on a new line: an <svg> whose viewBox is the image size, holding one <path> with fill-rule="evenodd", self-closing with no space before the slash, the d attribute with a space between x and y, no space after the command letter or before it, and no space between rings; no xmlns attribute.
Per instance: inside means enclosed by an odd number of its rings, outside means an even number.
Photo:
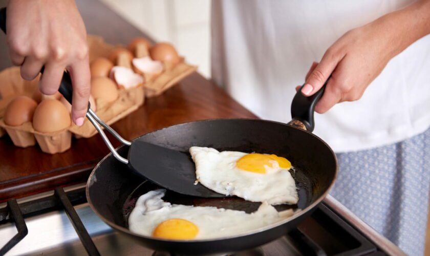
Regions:
<svg viewBox="0 0 430 256"><path fill-rule="evenodd" d="M3 30L3 32L6 34L6 7L0 9L0 29ZM44 67L40 70L40 73L44 73ZM73 87L72 87L72 80L70 78L69 73L64 72L63 77L61 78L60 87L58 91L62 94L63 97L67 101L72 104L72 95L73 95ZM121 157L118 152L116 152L114 146L107 138L106 134L101 129L100 125L106 129L106 131L110 132L116 139L118 139L122 144L130 146L132 143L130 141L125 140L122 138L114 129L112 129L111 126L104 123L97 114L90 108L90 102L88 102L88 111L87 111L87 118L90 120L90 122L94 125L96 130L99 132L101 138L103 139L104 143L107 147L109 147L109 150L112 152L114 157L119 160L122 163L127 164L128 160Z"/></svg>

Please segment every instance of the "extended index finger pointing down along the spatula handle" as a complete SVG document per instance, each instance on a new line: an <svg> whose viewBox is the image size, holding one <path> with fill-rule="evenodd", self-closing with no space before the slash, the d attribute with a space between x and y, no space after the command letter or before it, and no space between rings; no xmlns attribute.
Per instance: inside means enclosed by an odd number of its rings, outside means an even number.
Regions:
<svg viewBox="0 0 430 256"><path fill-rule="evenodd" d="M90 65L88 57L74 63L69 69L73 84L72 119L76 125L83 123L90 99Z"/></svg>

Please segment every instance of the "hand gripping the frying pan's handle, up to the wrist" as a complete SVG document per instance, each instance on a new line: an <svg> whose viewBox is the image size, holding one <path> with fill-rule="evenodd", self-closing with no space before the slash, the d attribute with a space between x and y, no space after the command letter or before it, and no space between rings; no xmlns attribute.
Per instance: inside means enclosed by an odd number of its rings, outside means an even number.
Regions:
<svg viewBox="0 0 430 256"><path fill-rule="evenodd" d="M392 58L387 44L388 40L372 25L364 26L340 37L319 63L312 63L302 89L304 95L317 92L331 75L315 111L322 114L336 103L361 98Z"/></svg>

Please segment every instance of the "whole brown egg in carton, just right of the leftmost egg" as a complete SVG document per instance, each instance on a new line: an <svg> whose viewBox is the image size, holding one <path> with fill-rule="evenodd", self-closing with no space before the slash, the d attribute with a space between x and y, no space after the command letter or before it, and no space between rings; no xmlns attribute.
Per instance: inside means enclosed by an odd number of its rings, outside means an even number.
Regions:
<svg viewBox="0 0 430 256"><path fill-rule="evenodd" d="M33 116L33 128L41 133L66 129L72 123L69 111L59 100L46 99L37 106Z"/></svg>

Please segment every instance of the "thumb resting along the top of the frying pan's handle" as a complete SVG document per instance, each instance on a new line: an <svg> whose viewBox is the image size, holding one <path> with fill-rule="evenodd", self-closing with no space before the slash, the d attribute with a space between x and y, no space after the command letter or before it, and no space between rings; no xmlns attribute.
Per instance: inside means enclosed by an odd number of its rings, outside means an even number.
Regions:
<svg viewBox="0 0 430 256"><path fill-rule="evenodd" d="M319 64L311 72L308 79L306 79L306 84L302 89L304 95L311 96L324 85L336 68L337 63L342 59L339 56L339 54L334 54L331 50L327 50Z"/></svg>

